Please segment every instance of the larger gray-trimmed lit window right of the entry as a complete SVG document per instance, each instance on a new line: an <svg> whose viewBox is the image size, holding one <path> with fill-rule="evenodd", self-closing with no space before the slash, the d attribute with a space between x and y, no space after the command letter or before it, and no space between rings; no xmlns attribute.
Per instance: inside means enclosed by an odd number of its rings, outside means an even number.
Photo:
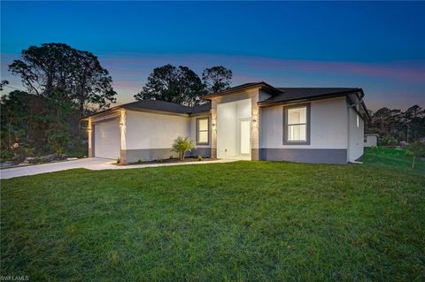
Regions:
<svg viewBox="0 0 425 282"><path fill-rule="evenodd" d="M310 105L291 106L284 108L284 144L310 144L309 119Z"/></svg>

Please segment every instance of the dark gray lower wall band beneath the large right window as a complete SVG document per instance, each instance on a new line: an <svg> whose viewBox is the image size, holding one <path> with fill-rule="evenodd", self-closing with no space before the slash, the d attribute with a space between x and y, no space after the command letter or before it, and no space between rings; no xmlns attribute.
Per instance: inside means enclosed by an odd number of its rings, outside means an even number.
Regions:
<svg viewBox="0 0 425 282"><path fill-rule="evenodd" d="M347 149L259 149L259 159L296 163L347 164Z"/></svg>

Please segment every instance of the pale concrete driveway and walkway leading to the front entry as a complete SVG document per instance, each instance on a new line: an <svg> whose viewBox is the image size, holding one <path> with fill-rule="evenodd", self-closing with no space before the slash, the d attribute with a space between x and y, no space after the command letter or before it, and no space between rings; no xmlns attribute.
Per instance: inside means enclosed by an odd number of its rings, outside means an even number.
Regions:
<svg viewBox="0 0 425 282"><path fill-rule="evenodd" d="M113 165L114 161L111 159L89 157L74 161L66 161L52 164L35 164L21 167L14 167L9 169L0 170L0 179L12 179L19 176L35 175L45 172L53 171L66 171L76 168L83 168L93 171L100 170L125 170L137 169L145 167L158 167L168 165L189 165L189 164L213 164L213 163L230 163L235 160L216 160L216 161L202 161L202 162L188 162L176 164L134 164L134 165Z"/></svg>

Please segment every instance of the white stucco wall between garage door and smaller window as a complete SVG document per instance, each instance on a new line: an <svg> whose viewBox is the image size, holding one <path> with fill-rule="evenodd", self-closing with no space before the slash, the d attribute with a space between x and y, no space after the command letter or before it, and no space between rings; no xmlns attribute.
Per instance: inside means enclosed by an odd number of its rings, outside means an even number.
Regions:
<svg viewBox="0 0 425 282"><path fill-rule="evenodd" d="M169 149L178 136L190 135L189 118L127 111L126 149Z"/></svg>

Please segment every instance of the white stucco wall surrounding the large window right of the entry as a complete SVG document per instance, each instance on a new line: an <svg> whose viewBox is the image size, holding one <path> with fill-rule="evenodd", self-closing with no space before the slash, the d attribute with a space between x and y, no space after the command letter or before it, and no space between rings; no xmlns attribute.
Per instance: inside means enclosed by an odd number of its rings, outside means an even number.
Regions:
<svg viewBox="0 0 425 282"><path fill-rule="evenodd" d="M345 98L310 103L310 145L283 145L283 106L261 108L259 147L268 149L347 149Z"/></svg>

